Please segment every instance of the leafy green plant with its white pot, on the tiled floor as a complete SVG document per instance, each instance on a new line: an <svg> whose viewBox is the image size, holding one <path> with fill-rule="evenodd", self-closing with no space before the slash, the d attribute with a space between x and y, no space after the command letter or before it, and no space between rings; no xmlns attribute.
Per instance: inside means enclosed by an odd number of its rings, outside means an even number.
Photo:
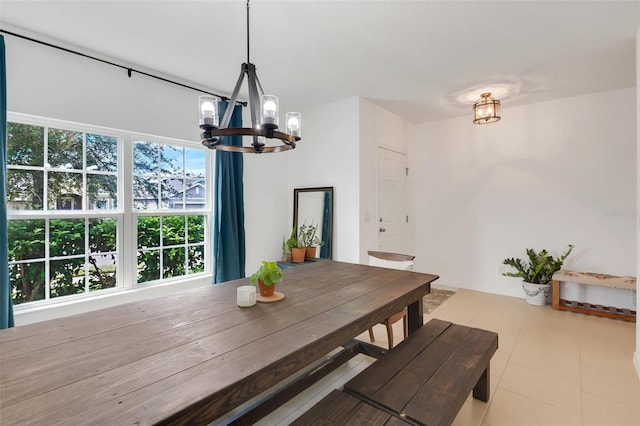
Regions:
<svg viewBox="0 0 640 426"><path fill-rule="evenodd" d="M551 256L547 250L536 252L534 249L526 249L527 260L505 259L503 265L511 266L516 272L503 272L506 277L522 278L522 288L526 295L527 303L536 306L544 306L549 298L551 278L556 271L562 268L562 264L571 251L573 245L569 244L567 250L558 258Z"/></svg>

